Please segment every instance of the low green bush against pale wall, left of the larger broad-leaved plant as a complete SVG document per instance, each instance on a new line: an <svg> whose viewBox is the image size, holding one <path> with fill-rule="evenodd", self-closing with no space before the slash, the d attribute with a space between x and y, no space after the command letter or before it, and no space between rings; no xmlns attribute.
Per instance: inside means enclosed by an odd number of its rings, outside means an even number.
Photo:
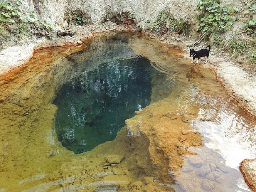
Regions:
<svg viewBox="0 0 256 192"><path fill-rule="evenodd" d="M150 20L147 20L149 23ZM157 16L157 21L151 26L152 31L161 32L165 30L179 31L183 30L184 33L188 33L190 26L183 19L175 19L169 11L161 11Z"/></svg>

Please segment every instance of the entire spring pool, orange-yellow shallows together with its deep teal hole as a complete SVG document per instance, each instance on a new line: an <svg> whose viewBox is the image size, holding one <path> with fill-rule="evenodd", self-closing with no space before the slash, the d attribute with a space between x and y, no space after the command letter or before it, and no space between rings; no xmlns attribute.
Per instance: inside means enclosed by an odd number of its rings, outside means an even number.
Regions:
<svg viewBox="0 0 256 192"><path fill-rule="evenodd" d="M249 191L256 122L178 47L133 33L0 76L1 191Z"/></svg>

